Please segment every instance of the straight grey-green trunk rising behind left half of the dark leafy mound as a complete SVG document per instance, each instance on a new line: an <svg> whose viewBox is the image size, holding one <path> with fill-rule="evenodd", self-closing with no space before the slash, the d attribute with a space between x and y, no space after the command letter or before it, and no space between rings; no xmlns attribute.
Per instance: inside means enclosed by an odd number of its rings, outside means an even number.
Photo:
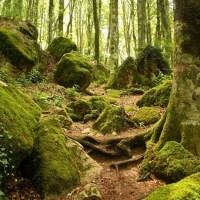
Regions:
<svg viewBox="0 0 200 200"><path fill-rule="evenodd" d="M146 0L137 1L138 14L138 49L145 45L146 37Z"/></svg>

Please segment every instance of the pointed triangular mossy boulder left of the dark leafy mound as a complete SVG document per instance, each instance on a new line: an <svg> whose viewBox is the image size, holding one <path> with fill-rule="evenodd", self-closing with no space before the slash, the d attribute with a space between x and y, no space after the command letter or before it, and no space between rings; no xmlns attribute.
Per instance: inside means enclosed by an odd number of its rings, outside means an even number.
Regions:
<svg viewBox="0 0 200 200"><path fill-rule="evenodd" d="M138 83L139 74L135 60L132 57L128 57L109 80L108 88L126 89L137 86Z"/></svg>

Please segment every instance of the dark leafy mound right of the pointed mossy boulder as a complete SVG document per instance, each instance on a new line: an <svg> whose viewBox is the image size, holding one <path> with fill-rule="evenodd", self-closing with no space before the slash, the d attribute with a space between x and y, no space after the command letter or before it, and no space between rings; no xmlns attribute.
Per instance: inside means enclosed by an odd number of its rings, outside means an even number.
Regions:
<svg viewBox="0 0 200 200"><path fill-rule="evenodd" d="M141 51L136 62L139 74L148 79L152 76L158 76L159 72L163 74L170 72L169 64L162 55L161 49L150 45Z"/></svg>

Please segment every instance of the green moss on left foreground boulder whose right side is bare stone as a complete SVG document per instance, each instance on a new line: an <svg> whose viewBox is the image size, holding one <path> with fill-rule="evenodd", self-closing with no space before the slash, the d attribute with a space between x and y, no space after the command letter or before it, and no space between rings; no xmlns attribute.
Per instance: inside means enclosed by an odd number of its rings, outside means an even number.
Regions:
<svg viewBox="0 0 200 200"><path fill-rule="evenodd" d="M24 161L24 174L32 179L43 197L60 194L80 183L72 158L59 120L44 118L37 131L33 153Z"/></svg>

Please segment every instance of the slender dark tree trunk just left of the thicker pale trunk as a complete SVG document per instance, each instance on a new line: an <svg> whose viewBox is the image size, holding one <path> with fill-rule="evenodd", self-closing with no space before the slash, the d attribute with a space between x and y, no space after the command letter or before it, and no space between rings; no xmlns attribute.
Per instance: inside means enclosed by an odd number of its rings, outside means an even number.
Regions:
<svg viewBox="0 0 200 200"><path fill-rule="evenodd" d="M94 30L95 30L95 36L94 36L94 43L95 43L95 55L94 59L97 62L97 65L99 65L99 17L98 17L98 8L97 8L97 1L93 0L93 17L94 17Z"/></svg>

